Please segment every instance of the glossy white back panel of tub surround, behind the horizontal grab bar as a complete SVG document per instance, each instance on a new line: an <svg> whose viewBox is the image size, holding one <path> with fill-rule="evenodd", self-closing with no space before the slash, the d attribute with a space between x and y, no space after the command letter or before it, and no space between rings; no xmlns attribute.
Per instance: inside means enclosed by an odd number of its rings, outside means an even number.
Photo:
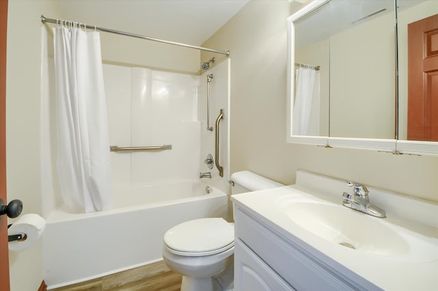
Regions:
<svg viewBox="0 0 438 291"><path fill-rule="evenodd" d="M198 76L103 65L111 145L172 144L170 151L111 153L113 185L196 179L201 149Z"/></svg>

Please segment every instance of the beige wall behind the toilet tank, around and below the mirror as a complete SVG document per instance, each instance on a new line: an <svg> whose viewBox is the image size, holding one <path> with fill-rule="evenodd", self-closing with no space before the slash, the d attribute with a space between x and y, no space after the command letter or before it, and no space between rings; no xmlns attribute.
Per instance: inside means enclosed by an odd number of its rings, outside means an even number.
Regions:
<svg viewBox="0 0 438 291"><path fill-rule="evenodd" d="M286 18L292 12L288 1L250 1L203 44L231 51L231 173L252 170L294 184L296 170L305 169L438 201L438 157L285 142Z"/></svg>

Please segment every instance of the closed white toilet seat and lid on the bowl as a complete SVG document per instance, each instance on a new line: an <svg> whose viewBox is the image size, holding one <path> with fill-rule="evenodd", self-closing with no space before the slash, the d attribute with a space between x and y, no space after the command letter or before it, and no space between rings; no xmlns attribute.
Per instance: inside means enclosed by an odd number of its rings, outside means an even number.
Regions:
<svg viewBox="0 0 438 291"><path fill-rule="evenodd" d="M214 255L234 246L234 225L223 218L201 218L172 227L164 234L170 253L184 256Z"/></svg>

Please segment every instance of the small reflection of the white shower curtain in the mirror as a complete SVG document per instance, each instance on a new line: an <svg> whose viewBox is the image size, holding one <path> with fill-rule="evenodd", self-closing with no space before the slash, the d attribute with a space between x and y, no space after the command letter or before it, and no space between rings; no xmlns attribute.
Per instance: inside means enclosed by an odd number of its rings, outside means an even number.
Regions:
<svg viewBox="0 0 438 291"><path fill-rule="evenodd" d="M313 68L297 68L293 123L294 135L319 135L319 104L319 73Z"/></svg>

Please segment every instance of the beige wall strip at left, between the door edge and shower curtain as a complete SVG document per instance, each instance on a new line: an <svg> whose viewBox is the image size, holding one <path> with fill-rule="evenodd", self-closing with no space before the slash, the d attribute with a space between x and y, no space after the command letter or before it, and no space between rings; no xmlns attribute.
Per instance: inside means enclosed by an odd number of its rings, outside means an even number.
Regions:
<svg viewBox="0 0 438 291"><path fill-rule="evenodd" d="M41 14L56 14L53 1L10 0L6 77L8 200L21 199L23 214L41 214L40 72ZM12 291L38 290L42 244L10 252Z"/></svg>

